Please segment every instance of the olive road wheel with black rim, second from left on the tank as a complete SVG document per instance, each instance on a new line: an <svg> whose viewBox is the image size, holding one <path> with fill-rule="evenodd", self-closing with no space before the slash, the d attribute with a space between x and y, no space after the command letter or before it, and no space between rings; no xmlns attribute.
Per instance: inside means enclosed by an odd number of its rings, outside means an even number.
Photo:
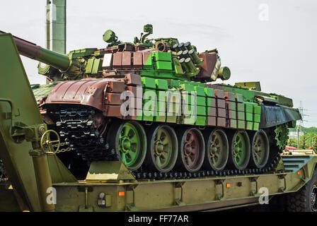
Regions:
<svg viewBox="0 0 317 226"><path fill-rule="evenodd" d="M159 125L146 131L146 134L148 141L146 167L159 172L171 171L178 155L178 141L173 128Z"/></svg>

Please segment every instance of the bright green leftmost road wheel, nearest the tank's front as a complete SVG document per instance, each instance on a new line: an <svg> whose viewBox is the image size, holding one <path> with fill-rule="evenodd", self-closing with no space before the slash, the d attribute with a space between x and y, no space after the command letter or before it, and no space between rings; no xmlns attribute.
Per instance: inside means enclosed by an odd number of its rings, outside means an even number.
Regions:
<svg viewBox="0 0 317 226"><path fill-rule="evenodd" d="M113 136L115 135L115 136ZM129 170L141 167L146 155L146 135L137 121L113 122L107 141Z"/></svg>

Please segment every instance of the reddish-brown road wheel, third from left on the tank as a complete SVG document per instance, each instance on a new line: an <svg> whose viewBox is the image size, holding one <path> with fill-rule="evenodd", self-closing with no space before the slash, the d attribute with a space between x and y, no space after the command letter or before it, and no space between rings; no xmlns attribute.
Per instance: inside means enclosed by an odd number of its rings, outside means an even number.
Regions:
<svg viewBox="0 0 317 226"><path fill-rule="evenodd" d="M199 129L189 128L178 131L178 161L179 169L196 172L204 161L204 137Z"/></svg>

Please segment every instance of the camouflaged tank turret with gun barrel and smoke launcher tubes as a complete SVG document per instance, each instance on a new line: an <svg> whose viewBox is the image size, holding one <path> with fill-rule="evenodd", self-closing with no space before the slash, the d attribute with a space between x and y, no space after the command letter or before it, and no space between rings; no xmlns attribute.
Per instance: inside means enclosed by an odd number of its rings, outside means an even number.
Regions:
<svg viewBox="0 0 317 226"><path fill-rule="evenodd" d="M153 26L146 24L144 33L134 37L134 42L121 42L113 30L107 30L103 34L106 48L79 49L69 54L59 54L18 37L13 39L21 55L40 61L38 72L50 81L120 78L127 72L182 81L230 78L229 68L221 68L217 49L198 53L190 42L178 42L173 37L149 39L152 33Z"/></svg>

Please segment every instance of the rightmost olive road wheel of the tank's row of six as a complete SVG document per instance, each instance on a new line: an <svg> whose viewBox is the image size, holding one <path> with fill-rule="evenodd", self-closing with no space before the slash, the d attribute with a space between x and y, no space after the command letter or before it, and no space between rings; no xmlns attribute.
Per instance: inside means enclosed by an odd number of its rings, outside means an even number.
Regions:
<svg viewBox="0 0 317 226"><path fill-rule="evenodd" d="M268 162L270 155L269 139L262 129L256 131L251 143L250 165L262 169Z"/></svg>

